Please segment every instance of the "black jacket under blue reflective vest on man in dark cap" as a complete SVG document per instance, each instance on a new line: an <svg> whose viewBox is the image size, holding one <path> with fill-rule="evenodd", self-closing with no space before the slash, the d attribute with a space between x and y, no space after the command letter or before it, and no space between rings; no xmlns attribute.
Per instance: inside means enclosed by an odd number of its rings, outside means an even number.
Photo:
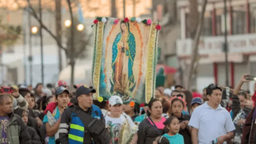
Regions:
<svg viewBox="0 0 256 144"><path fill-rule="evenodd" d="M75 109L78 109L82 113L88 113L89 115L91 115L91 113L92 113L92 108L89 108L87 111L83 111L83 109L81 109L78 105L71 105L62 114L62 118L61 118L61 122L60 122L60 129L66 129L66 130L69 131L69 129L70 129L69 127L68 128L64 128L62 126L65 126L65 125L66 126L70 126L70 122L72 120L72 113L74 113ZM102 114L100 115L100 119L105 124L105 119L104 119L104 116ZM106 129L103 132L104 132L104 134L91 135L90 132L88 132L87 129L85 128L85 135L83 137L83 143L84 144L91 144L91 143L93 143L93 141L91 141L91 138L93 136L93 140L95 141L96 144L101 144L101 143L102 144L103 143L104 144L109 144L110 135L108 134L108 131ZM102 139L104 139L104 142L102 142ZM59 139L59 141L60 141L61 144L68 144L68 133L60 132L60 139Z"/></svg>

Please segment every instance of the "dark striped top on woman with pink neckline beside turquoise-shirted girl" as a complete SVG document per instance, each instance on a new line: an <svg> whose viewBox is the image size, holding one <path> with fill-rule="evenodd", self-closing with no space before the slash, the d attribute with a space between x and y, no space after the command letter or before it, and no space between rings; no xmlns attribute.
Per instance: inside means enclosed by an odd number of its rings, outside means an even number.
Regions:
<svg viewBox="0 0 256 144"><path fill-rule="evenodd" d="M164 122L164 120L161 120L161 122ZM156 124L156 125L159 125L159 124ZM158 130L160 130L161 135L168 132L167 129L158 129ZM144 119L142 122L140 122L140 125L139 125L139 130L137 133L138 134L137 144L153 143L153 141L156 140L156 137L160 136L158 130L156 130L156 126L150 123L148 118Z"/></svg>

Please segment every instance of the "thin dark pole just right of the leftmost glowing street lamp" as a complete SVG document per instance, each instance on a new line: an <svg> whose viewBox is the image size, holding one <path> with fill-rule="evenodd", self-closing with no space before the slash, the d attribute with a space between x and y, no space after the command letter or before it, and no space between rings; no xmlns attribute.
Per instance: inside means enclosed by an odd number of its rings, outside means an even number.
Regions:
<svg viewBox="0 0 256 144"><path fill-rule="evenodd" d="M44 84L44 69L43 69L43 33L42 33L42 7L41 7L41 0L39 0L39 15L40 15L40 47L41 47L41 82Z"/></svg>

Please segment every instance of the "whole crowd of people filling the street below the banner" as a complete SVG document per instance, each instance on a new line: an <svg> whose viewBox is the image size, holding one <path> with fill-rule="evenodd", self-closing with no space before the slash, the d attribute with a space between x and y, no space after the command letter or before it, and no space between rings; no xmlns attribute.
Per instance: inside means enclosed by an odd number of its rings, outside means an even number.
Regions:
<svg viewBox="0 0 256 144"><path fill-rule="evenodd" d="M158 86L149 103L93 99L83 84L1 87L1 144L256 143L256 93L210 84L203 94ZM256 91L256 84L255 84Z"/></svg>

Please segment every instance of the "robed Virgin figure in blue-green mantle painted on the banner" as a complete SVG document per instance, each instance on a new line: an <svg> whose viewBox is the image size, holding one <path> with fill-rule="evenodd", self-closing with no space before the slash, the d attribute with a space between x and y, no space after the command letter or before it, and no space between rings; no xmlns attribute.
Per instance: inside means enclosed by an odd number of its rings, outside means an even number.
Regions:
<svg viewBox="0 0 256 144"><path fill-rule="evenodd" d="M121 32L117 34L112 46L112 94L130 96L135 88L133 64L136 55L135 36L129 23L121 22Z"/></svg>

